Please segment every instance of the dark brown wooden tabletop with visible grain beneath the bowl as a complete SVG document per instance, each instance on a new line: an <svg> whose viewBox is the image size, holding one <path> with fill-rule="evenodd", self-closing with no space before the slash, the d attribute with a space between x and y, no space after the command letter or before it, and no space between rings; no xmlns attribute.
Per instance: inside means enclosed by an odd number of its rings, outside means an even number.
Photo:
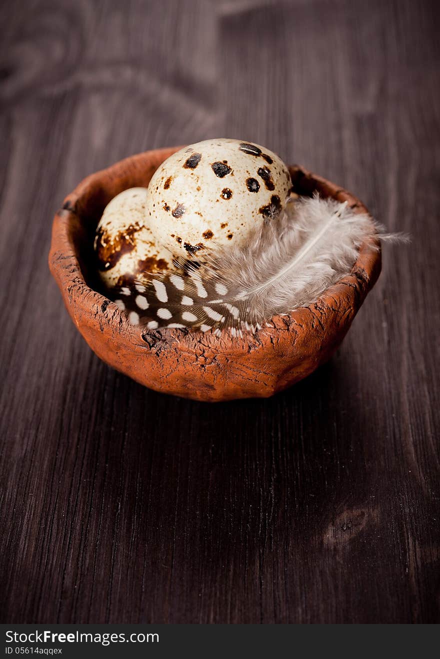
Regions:
<svg viewBox="0 0 440 659"><path fill-rule="evenodd" d="M1 621L439 620L435 4L2 3ZM331 362L267 401L113 372L47 268L80 179L209 136L412 233Z"/></svg>

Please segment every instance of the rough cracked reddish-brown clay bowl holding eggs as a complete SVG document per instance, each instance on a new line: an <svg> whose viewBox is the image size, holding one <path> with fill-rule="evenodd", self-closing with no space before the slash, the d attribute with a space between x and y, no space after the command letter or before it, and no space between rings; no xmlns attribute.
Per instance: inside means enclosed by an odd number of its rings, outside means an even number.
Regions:
<svg viewBox="0 0 440 659"><path fill-rule="evenodd" d="M224 331L144 331L132 327L116 304L99 293L94 232L107 203L126 188L147 186L176 148L126 158L87 177L67 196L53 220L51 273L72 320L103 361L137 382L199 401L268 397L302 380L341 344L381 270L380 251L364 244L347 277L310 306L274 316L273 328L233 338ZM290 167L294 190L364 205L346 190L302 167Z"/></svg>

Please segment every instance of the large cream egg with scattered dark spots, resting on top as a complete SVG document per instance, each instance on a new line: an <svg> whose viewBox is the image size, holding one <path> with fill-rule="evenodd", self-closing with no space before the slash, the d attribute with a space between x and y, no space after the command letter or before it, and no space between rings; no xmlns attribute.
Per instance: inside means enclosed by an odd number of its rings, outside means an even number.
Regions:
<svg viewBox="0 0 440 659"><path fill-rule="evenodd" d="M242 245L256 225L276 221L291 185L285 163L263 146L205 140L155 171L146 194L148 225L180 256L213 243Z"/></svg>

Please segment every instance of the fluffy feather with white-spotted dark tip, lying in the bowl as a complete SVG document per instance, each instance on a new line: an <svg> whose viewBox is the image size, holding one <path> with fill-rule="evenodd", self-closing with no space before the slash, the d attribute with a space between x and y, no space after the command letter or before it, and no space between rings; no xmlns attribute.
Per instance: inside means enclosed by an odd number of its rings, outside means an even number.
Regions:
<svg viewBox="0 0 440 659"><path fill-rule="evenodd" d="M260 329L316 299L348 274L364 241L377 249L369 215L318 196L288 202L279 217L254 233L246 246L194 253L177 270L146 273L123 287L116 301L134 325L146 329L196 328L233 335Z"/></svg>

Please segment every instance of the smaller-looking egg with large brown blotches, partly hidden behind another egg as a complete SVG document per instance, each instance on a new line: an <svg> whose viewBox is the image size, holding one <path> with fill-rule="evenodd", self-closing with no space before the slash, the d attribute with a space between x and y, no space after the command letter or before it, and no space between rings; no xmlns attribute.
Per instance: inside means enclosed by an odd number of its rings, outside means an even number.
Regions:
<svg viewBox="0 0 440 659"><path fill-rule="evenodd" d="M107 204L97 225L97 266L109 287L171 266L169 251L161 247L146 222L147 196L147 188L124 190Z"/></svg>

